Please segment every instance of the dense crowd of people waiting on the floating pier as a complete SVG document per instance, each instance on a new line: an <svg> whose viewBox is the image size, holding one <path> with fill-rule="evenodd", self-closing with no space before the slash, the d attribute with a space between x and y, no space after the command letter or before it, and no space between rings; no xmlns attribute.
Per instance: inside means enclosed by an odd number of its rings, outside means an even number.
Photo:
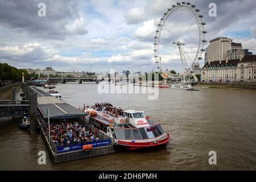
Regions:
<svg viewBox="0 0 256 182"><path fill-rule="evenodd" d="M44 125L44 130L48 133L48 122L40 119ZM80 144L99 140L96 134L82 124L82 121L72 121L64 119L64 122L51 122L50 134L52 142L60 145Z"/></svg>

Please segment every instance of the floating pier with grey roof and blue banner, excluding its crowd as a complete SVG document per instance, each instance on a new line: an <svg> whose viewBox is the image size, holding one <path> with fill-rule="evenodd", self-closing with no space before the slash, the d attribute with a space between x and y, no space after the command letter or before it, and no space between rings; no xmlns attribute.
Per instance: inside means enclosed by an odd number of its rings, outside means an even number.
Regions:
<svg viewBox="0 0 256 182"><path fill-rule="evenodd" d="M97 133L97 135L100 136L100 139L93 142L69 144L65 146L58 146L57 144L53 143L51 139L49 142L48 132L44 129L44 125L42 123L42 119L43 121L48 121L48 110L50 123L51 121L57 122L63 121L63 119L79 118L82 119L85 124L85 117L87 114L64 101L52 97L35 86L30 86L28 89L30 89L30 92L32 91L33 93L37 93L38 115L43 115L41 119L38 119L38 125L40 126L42 137L46 142L47 150L53 163L112 154L116 151L113 140L104 133ZM94 128L92 128L92 126L90 127L90 130L94 131ZM88 144L91 145L92 148L90 148L90 150L83 150L83 146Z"/></svg>

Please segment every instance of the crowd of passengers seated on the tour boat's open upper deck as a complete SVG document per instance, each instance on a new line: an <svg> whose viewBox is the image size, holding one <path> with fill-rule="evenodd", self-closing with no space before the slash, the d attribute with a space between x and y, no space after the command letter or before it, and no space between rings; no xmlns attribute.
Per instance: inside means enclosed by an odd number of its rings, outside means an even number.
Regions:
<svg viewBox="0 0 256 182"><path fill-rule="evenodd" d="M96 103L93 106L93 109L98 110L98 111L104 111L104 113L108 113L113 117L116 117L118 115L124 115L125 112L123 109L121 109L121 107L113 107L112 104L108 103L108 102L104 102L104 103Z"/></svg>

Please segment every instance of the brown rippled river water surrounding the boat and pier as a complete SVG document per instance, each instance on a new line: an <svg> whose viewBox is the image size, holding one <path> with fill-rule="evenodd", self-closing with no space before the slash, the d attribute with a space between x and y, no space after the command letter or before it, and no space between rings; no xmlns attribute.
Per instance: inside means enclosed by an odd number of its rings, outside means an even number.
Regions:
<svg viewBox="0 0 256 182"><path fill-rule="evenodd" d="M111 102L122 109L143 110L160 119L172 140L167 147L52 164L38 164L47 151L40 134L19 130L18 119L0 119L0 169L18 170L224 170L256 169L256 90L200 88L200 92L159 89L147 94L100 94L97 84L58 84L63 101L72 106ZM41 88L43 89L43 88ZM47 90L47 89L44 89ZM18 93L17 93L18 94ZM209 151L217 164L209 165Z"/></svg>

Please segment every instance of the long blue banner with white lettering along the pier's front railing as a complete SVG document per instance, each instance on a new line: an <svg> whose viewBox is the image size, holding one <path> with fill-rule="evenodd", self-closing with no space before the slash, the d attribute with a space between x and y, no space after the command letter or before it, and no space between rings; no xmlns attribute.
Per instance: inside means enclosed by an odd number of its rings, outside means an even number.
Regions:
<svg viewBox="0 0 256 182"><path fill-rule="evenodd" d="M100 140L100 141L95 141L95 142L80 143L80 144L72 144L69 146L60 146L60 147L57 147L57 153L82 150L82 146L84 146L85 144L92 144L93 148L101 147L101 146L108 146L111 144L111 139Z"/></svg>

